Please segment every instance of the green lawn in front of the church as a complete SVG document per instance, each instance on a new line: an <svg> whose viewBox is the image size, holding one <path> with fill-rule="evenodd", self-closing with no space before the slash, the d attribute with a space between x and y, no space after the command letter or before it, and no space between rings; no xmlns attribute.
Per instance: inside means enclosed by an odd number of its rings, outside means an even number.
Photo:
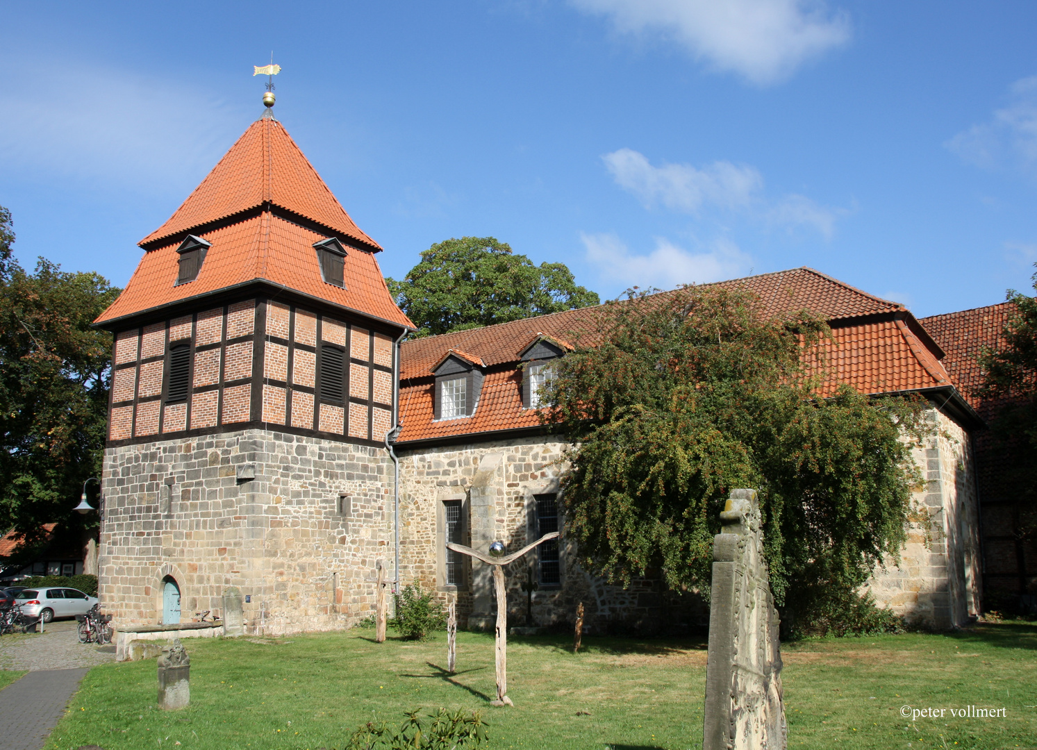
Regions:
<svg viewBox="0 0 1037 750"><path fill-rule="evenodd" d="M360 722L403 710L477 709L489 747L686 750L702 743L701 641L515 638L514 709L494 693L493 638L460 633L447 675L444 634L373 642L371 631L283 639L188 640L189 709L156 707L156 663L109 664L85 678L48 749L341 748ZM1037 748L1037 627L814 640L786 646L789 747ZM1004 707L997 719L919 718L902 705Z"/></svg>

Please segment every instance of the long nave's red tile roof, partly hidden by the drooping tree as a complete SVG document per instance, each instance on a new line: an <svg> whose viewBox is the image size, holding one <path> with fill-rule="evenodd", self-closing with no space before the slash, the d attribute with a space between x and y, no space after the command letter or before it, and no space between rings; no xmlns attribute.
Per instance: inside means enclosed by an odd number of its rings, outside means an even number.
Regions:
<svg viewBox="0 0 1037 750"><path fill-rule="evenodd" d="M831 377L822 392L831 393L839 383L848 383L863 393L951 385L940 363L940 348L896 302L807 268L714 285L755 293L767 314L808 309L825 316L832 326L832 340L821 349ZM539 335L593 344L599 335L596 322L602 310L605 306L587 307L404 341L400 356L400 442L539 425L536 412L522 408L520 353ZM435 421L431 367L449 349L481 357L488 370L473 416Z"/></svg>

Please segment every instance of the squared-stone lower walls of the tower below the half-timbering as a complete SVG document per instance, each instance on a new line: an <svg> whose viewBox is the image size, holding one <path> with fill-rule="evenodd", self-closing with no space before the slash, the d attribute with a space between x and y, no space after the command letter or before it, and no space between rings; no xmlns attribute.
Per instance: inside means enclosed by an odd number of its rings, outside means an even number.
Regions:
<svg viewBox="0 0 1037 750"><path fill-rule="evenodd" d="M264 429L127 445L105 451L103 492L99 595L116 626L159 623L170 576L181 621L222 614L236 586L247 633L345 628L393 557L380 448Z"/></svg>

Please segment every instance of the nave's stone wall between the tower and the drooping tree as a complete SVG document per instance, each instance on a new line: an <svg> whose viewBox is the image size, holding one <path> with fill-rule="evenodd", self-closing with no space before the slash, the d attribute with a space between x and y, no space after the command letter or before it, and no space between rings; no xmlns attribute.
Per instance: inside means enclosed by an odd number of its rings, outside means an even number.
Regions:
<svg viewBox="0 0 1037 750"><path fill-rule="evenodd" d="M400 584L418 581L436 590L442 602L455 595L463 627L489 627L496 605L487 565L466 558L465 584L444 585L440 505L445 500L464 502L463 515L469 521L464 544L485 550L500 539L509 552L516 550L531 540L533 496L558 492L564 447L556 437L414 449L399 446ZM635 581L623 590L576 564L571 544L563 546L560 556L562 585L541 587L533 594L537 626L571 622L579 602L584 603L585 622L592 631L616 627L651 631L664 624L660 618L670 598L660 581ZM526 621L526 593L521 586L534 559L535 553L529 553L505 568L511 624Z"/></svg>

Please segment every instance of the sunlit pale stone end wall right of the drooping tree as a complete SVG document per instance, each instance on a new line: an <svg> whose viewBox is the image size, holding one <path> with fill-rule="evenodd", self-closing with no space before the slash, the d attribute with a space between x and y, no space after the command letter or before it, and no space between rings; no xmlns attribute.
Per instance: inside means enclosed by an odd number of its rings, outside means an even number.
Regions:
<svg viewBox="0 0 1037 750"><path fill-rule="evenodd" d="M887 560L869 588L879 606L935 629L966 624L981 611L976 473L969 434L935 409L937 435L914 451L925 477L915 502L927 519L908 529L899 567Z"/></svg>

